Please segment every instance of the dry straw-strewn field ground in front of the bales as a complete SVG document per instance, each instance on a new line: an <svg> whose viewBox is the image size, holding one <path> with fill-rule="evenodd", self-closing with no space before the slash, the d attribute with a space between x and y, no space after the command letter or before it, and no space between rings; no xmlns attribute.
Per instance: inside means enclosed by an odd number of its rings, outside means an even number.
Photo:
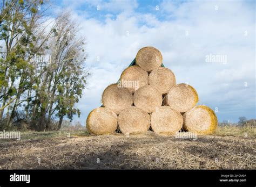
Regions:
<svg viewBox="0 0 256 187"><path fill-rule="evenodd" d="M197 140L23 132L21 141L1 140L0 150L0 169L256 169L255 127L219 127Z"/></svg>

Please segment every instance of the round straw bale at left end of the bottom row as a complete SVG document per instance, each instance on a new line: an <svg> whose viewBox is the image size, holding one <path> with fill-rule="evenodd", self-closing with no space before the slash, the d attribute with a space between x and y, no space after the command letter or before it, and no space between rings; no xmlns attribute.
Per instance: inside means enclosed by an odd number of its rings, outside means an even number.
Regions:
<svg viewBox="0 0 256 187"><path fill-rule="evenodd" d="M117 129L117 115L106 107L92 110L86 120L86 128L90 134L109 134Z"/></svg>

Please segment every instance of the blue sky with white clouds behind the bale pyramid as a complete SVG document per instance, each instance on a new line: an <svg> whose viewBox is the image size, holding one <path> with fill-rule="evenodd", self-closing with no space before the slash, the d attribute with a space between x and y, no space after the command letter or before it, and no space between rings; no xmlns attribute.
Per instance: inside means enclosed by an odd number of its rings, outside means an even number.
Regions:
<svg viewBox="0 0 256 187"><path fill-rule="evenodd" d="M196 88L219 121L255 118L254 1L59 0L53 7L70 10L87 41L92 75L75 119L82 124L145 46L160 50L177 83Z"/></svg>

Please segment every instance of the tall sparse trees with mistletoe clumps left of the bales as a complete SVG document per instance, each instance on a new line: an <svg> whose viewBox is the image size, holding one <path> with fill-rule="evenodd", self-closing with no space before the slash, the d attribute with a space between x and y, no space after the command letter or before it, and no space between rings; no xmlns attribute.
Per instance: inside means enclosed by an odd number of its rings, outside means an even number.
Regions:
<svg viewBox="0 0 256 187"><path fill-rule="evenodd" d="M0 129L26 121L38 131L60 129L85 88L85 39L64 12L46 15L42 0L2 0L0 5ZM54 123L58 119L58 124Z"/></svg>

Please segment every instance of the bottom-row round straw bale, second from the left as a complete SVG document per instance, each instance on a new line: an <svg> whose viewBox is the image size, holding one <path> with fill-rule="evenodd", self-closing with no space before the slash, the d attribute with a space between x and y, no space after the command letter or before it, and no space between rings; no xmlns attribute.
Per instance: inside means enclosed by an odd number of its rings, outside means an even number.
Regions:
<svg viewBox="0 0 256 187"><path fill-rule="evenodd" d="M118 125L124 134L145 133L150 127L150 116L138 107L130 106L119 114Z"/></svg>

